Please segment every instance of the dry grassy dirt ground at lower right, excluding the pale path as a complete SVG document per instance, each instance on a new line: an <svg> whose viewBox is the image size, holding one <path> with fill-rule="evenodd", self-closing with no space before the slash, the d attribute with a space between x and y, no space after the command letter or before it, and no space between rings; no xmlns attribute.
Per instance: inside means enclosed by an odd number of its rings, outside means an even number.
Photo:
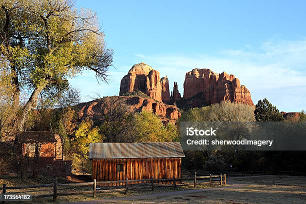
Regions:
<svg viewBox="0 0 306 204"><path fill-rule="evenodd" d="M134 200L133 203L306 203L306 177L248 176L232 177L227 180L229 183L248 185L153 197ZM130 203L130 200L124 200L122 203Z"/></svg>

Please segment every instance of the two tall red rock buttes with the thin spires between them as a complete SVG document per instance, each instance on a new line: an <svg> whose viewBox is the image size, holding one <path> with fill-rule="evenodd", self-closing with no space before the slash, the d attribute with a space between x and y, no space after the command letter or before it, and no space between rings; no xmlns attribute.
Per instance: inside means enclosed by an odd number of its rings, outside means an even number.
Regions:
<svg viewBox="0 0 306 204"><path fill-rule="evenodd" d="M141 62L132 66L121 79L119 95L140 90L150 98L178 107L198 107L230 100L254 105L249 90L240 85L233 74L214 73L210 69L192 69L185 75L184 92L181 97L177 82L169 95L167 76L160 78L159 72Z"/></svg>

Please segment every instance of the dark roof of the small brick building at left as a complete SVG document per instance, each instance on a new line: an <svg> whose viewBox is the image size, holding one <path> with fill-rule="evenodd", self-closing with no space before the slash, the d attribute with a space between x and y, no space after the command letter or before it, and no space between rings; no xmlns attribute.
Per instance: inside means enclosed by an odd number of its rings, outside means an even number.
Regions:
<svg viewBox="0 0 306 204"><path fill-rule="evenodd" d="M18 142L56 142L54 134L49 131L24 131L17 135Z"/></svg>

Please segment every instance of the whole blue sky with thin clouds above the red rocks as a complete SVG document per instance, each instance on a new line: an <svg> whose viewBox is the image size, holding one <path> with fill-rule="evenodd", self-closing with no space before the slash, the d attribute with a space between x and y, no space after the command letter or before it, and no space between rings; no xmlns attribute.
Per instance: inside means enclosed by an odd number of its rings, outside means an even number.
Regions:
<svg viewBox="0 0 306 204"><path fill-rule="evenodd" d="M117 95L120 79L141 61L177 81L183 93L192 68L226 71L281 111L306 109L306 1L304 0L76 0L99 17L114 50L109 83L94 73L70 80L82 100Z"/></svg>

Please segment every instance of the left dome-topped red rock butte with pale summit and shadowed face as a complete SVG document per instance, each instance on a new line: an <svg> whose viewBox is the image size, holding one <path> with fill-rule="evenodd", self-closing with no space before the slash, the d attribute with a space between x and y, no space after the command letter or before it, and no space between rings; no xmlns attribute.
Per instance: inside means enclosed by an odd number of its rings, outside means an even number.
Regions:
<svg viewBox="0 0 306 204"><path fill-rule="evenodd" d="M121 79L119 95L135 90L162 101L159 72L143 62L133 65Z"/></svg>

